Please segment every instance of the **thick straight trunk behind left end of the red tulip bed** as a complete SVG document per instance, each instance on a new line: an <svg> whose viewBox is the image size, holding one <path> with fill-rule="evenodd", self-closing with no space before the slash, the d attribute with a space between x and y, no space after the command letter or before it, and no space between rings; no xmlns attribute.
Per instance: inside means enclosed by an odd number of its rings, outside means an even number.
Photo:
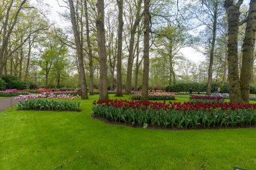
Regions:
<svg viewBox="0 0 256 170"><path fill-rule="evenodd" d="M104 30L104 0L97 0L98 16L96 19L98 54L100 58L100 99L108 99L108 80L106 67L106 38Z"/></svg>

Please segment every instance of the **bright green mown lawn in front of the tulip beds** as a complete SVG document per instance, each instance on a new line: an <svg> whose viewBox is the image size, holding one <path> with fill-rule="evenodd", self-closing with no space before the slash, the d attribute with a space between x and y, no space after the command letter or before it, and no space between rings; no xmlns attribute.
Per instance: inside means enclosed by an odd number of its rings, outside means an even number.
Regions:
<svg viewBox="0 0 256 170"><path fill-rule="evenodd" d="M0 169L256 167L255 128L173 131L106 124L90 116L94 99L98 95L81 101L82 112L0 112Z"/></svg>

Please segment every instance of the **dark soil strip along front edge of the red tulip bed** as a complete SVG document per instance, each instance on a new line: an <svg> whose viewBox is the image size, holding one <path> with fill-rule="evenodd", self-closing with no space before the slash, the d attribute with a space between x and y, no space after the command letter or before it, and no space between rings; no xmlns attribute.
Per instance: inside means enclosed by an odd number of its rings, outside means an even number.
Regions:
<svg viewBox="0 0 256 170"><path fill-rule="evenodd" d="M113 120L108 120L106 118L102 118L95 114L92 114L91 116L92 116L92 118L95 118L95 119L105 122L107 124L118 124L118 125L123 125L123 126L129 126L132 128L142 128L139 125L132 125L132 124L128 124L125 122L115 122ZM148 125L147 129L150 129L150 130L220 130L220 129L238 129L238 128L256 128L256 126L236 126L236 127L228 126L228 127L210 127L210 128L197 128L197 129L187 128L186 129L186 128L162 128L162 127L158 127L158 126Z"/></svg>

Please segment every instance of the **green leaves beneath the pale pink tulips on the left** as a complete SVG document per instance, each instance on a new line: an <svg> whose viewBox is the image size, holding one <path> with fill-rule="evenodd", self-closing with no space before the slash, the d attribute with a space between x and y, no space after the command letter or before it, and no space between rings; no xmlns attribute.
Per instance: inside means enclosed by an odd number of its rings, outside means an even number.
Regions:
<svg viewBox="0 0 256 170"><path fill-rule="evenodd" d="M18 110L80 111L80 103L57 101L55 99L20 100Z"/></svg>

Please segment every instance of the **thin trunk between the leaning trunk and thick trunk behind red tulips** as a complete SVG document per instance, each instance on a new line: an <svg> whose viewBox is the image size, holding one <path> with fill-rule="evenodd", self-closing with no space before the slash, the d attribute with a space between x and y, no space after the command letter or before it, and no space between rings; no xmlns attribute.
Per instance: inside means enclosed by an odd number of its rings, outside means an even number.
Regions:
<svg viewBox="0 0 256 170"><path fill-rule="evenodd" d="M84 9L85 9L85 15L86 15L86 40L87 40L87 46L88 46L88 56L89 56L89 77L90 77L90 95L94 95L94 71L93 71L93 65L92 65L92 46L90 41L90 30L89 30L89 18L88 18L88 6L87 6L87 0L84 1Z"/></svg>

